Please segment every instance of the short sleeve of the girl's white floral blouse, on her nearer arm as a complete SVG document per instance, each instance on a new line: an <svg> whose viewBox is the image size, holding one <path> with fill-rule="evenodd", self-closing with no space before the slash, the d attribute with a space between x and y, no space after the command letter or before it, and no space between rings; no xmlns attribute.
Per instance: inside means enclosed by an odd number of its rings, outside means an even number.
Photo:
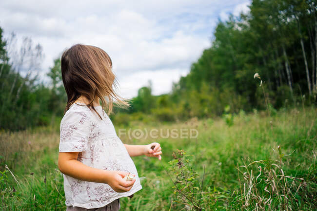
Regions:
<svg viewBox="0 0 317 211"><path fill-rule="evenodd" d="M59 152L83 152L87 149L90 120L84 111L68 111L60 122Z"/></svg>

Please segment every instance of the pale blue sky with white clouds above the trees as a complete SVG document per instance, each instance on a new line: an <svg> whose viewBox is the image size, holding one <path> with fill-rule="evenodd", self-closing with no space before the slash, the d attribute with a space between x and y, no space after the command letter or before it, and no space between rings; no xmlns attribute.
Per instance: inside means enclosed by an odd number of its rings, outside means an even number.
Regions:
<svg viewBox="0 0 317 211"><path fill-rule="evenodd" d="M250 0L1 0L4 37L32 38L43 47L40 79L73 44L95 45L113 61L119 94L169 93L173 82L211 46L218 20L249 11Z"/></svg>

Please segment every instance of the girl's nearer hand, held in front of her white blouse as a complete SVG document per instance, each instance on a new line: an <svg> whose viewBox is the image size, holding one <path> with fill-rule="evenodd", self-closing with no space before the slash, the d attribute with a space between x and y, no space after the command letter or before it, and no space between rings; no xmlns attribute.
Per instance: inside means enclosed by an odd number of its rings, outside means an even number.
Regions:
<svg viewBox="0 0 317 211"><path fill-rule="evenodd" d="M128 192L131 190L136 180L133 179L132 181L125 181L123 177L127 174L129 173L120 171L107 171L106 183L110 185L110 187L115 192Z"/></svg>

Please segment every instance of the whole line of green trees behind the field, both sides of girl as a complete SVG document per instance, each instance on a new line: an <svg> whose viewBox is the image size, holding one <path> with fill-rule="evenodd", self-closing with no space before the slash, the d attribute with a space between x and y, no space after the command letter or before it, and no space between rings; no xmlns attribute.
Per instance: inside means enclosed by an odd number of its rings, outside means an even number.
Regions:
<svg viewBox="0 0 317 211"><path fill-rule="evenodd" d="M177 121L266 106L278 109L303 98L316 103L316 2L252 0L249 7L246 14L218 20L211 47L170 93L153 96L150 85L142 87L127 110L115 110L114 121ZM2 34L0 29L0 128L57 124L66 102L60 59L54 60L48 73L51 81L44 84L37 74L41 46L24 38L23 47L9 53L14 36L4 39ZM269 105L255 73L263 80Z"/></svg>

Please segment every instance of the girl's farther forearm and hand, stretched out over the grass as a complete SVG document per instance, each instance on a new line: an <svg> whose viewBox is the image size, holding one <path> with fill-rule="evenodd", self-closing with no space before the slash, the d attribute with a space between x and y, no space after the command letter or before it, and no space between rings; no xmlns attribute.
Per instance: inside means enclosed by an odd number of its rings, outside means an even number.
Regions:
<svg viewBox="0 0 317 211"><path fill-rule="evenodd" d="M153 142L148 145L129 145L124 144L125 148L127 149L129 155L139 156L139 155L146 155L149 157L158 157L161 159L162 148L160 147L159 143Z"/></svg>

